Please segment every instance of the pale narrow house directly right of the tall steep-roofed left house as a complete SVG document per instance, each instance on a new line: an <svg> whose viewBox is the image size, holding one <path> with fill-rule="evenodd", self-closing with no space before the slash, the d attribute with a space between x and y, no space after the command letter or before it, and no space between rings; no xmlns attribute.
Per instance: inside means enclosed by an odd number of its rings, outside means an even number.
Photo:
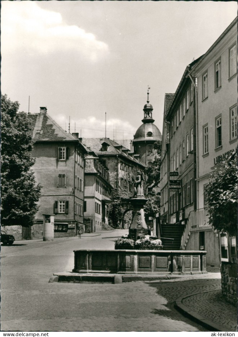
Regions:
<svg viewBox="0 0 238 337"><path fill-rule="evenodd" d="M91 150L85 157L84 222L88 233L108 225L107 206L111 203L112 185L108 167Z"/></svg>

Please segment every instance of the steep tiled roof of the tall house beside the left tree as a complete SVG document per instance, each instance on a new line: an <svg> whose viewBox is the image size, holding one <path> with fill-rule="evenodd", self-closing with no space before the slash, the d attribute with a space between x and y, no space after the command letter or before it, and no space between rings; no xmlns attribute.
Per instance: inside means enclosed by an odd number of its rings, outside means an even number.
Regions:
<svg viewBox="0 0 238 337"><path fill-rule="evenodd" d="M31 122L31 135L33 142L39 141L77 141L67 133L47 113L28 114Z"/></svg>

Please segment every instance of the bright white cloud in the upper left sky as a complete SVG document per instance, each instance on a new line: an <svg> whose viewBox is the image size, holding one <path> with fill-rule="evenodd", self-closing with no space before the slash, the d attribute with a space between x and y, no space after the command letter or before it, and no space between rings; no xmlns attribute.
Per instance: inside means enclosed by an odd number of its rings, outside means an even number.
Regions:
<svg viewBox="0 0 238 337"><path fill-rule="evenodd" d="M91 61L108 52L108 45L76 25L63 23L60 13L34 1L4 1L1 8L2 53L77 51Z"/></svg>

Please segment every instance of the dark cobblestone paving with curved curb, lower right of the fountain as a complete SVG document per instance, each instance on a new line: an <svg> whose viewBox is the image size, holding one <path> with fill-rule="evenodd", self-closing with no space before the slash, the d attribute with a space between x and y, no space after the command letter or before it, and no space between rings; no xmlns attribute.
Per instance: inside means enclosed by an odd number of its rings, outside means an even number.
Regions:
<svg viewBox="0 0 238 337"><path fill-rule="evenodd" d="M223 326L224 331L237 331L237 308L222 297L220 279L180 279L150 285L156 287L157 293L165 297L169 305L182 297L182 303L190 310Z"/></svg>

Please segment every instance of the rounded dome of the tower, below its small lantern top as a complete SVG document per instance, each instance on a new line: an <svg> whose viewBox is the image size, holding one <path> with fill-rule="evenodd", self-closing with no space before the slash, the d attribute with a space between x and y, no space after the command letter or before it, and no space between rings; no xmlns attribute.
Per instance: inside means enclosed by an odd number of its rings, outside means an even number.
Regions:
<svg viewBox="0 0 238 337"><path fill-rule="evenodd" d="M156 125L153 123L143 123L136 131L134 142L141 141L161 141L162 135Z"/></svg>

